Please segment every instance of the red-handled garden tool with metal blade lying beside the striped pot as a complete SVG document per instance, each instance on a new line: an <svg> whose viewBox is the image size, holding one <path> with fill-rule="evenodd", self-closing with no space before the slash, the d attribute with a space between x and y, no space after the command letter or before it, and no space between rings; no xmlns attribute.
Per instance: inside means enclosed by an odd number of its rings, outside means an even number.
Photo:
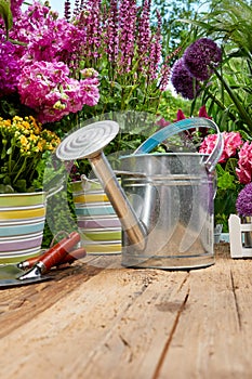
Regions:
<svg viewBox="0 0 252 379"><path fill-rule="evenodd" d="M85 256L85 250L83 248L72 250L79 241L79 233L72 232L40 257L31 258L16 265L3 265L0 267L0 288L28 285L51 279L52 277L44 275L51 267L63 263L72 263L76 259ZM27 271L24 271L25 269Z"/></svg>

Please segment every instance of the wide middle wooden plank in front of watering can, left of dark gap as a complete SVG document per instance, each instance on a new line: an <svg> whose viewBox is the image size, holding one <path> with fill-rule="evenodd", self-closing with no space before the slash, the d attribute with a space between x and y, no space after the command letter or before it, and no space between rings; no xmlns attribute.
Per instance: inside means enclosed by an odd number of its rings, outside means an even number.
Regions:
<svg viewBox="0 0 252 379"><path fill-rule="evenodd" d="M39 377L47 367L51 378L141 378L140 370L150 378L183 306L186 276L102 271L1 340L1 375Z"/></svg>

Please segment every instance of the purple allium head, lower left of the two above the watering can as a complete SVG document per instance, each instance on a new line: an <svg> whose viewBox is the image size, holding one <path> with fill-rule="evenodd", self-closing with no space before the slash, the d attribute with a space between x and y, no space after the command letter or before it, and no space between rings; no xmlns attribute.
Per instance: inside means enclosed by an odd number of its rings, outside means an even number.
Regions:
<svg viewBox="0 0 252 379"><path fill-rule="evenodd" d="M190 75L185 66L184 57L177 60L172 68L171 82L183 97L193 100L198 95L199 82Z"/></svg>

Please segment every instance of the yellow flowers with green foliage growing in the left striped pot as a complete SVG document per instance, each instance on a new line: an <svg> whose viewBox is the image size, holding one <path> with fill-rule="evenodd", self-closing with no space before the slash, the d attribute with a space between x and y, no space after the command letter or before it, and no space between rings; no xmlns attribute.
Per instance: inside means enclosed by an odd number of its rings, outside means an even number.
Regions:
<svg viewBox="0 0 252 379"><path fill-rule="evenodd" d="M32 188L39 180L35 186L40 187L43 174L40 162L48 158L43 153L54 151L59 142L54 132L42 129L32 116L6 120L0 117L0 168L4 173L0 184L8 180L14 191L25 191L24 182L27 188Z"/></svg>

